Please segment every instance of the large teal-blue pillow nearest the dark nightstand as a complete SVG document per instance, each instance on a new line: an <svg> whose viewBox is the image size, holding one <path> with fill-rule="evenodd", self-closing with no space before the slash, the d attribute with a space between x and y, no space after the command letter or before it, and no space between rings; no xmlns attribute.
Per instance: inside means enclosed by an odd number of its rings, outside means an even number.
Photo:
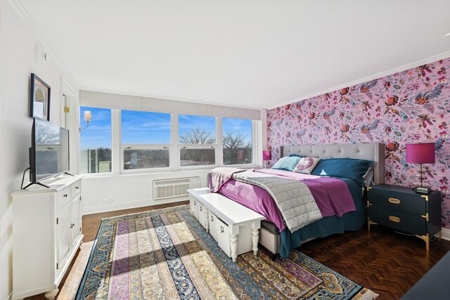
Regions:
<svg viewBox="0 0 450 300"><path fill-rule="evenodd" d="M359 185L364 185L363 176L366 175L373 161L355 158L328 158L321 159L312 170L311 175L326 175L350 178Z"/></svg>

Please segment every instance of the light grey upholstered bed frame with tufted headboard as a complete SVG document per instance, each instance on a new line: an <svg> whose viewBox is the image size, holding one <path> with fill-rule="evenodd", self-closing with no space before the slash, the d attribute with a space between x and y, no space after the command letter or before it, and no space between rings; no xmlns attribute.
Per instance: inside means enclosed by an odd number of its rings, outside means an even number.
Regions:
<svg viewBox="0 0 450 300"><path fill-rule="evenodd" d="M384 183L385 145L383 143L290 145L281 146L280 154L281 157L296 154L303 157L320 157L323 159L357 158L373 160L373 181L375 184ZM281 237L279 234L261 227L259 230L259 244L262 244L273 254L278 254L280 252Z"/></svg>

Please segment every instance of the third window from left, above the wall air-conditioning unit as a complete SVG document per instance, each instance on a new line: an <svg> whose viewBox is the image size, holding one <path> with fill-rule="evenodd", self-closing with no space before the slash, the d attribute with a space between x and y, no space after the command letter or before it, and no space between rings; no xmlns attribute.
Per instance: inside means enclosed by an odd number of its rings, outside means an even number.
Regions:
<svg viewBox="0 0 450 300"><path fill-rule="evenodd" d="M180 167L216 164L215 117L179 115Z"/></svg>

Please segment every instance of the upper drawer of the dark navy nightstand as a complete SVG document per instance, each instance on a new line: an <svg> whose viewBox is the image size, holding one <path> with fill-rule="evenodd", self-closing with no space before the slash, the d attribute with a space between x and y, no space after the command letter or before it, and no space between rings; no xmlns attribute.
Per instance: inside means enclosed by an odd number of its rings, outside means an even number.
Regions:
<svg viewBox="0 0 450 300"><path fill-rule="evenodd" d="M367 193L368 201L378 207L403 211L409 214L423 215L426 213L426 201L417 194L406 194L392 190L377 190L372 188Z"/></svg>

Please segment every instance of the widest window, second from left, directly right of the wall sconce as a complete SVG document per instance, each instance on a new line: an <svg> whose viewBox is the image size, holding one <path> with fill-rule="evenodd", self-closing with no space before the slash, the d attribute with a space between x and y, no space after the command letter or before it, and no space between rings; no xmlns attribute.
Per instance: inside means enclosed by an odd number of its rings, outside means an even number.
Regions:
<svg viewBox="0 0 450 300"><path fill-rule="evenodd" d="M122 110L120 124L122 170L169 167L170 114Z"/></svg>

